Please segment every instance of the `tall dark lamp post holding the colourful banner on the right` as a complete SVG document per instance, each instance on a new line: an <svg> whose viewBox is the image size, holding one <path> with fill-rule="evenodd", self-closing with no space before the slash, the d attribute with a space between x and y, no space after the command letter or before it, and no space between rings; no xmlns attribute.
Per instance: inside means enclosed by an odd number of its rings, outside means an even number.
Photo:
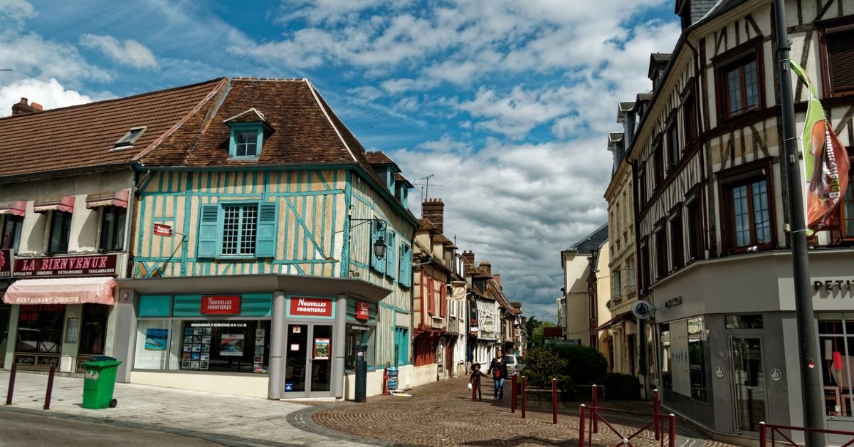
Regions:
<svg viewBox="0 0 854 447"><path fill-rule="evenodd" d="M789 185L788 208L792 241L792 267L795 292L795 317L798 326L798 359L800 361L801 396L804 401L804 426L824 428L821 378L816 368L816 316L810 293L810 259L807 254L804 221L803 185L798 161L798 138L795 134L795 109L792 96L792 74L789 66L789 39L786 29L784 0L774 0L777 62L780 64L780 105L783 120L783 142L786 149L786 178ZM825 445L820 432L807 432L810 447Z"/></svg>

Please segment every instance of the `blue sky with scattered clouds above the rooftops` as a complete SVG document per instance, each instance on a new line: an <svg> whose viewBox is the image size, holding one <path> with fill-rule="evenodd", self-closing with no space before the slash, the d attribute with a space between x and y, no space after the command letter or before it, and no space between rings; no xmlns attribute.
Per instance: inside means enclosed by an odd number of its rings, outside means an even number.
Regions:
<svg viewBox="0 0 854 447"><path fill-rule="evenodd" d="M368 150L413 182L435 175L446 234L492 263L525 314L554 320L560 250L607 220L607 132L618 101L650 90L650 53L676 44L673 8L0 0L0 68L14 70L0 72L0 116L20 97L52 109L221 76L308 78Z"/></svg>

